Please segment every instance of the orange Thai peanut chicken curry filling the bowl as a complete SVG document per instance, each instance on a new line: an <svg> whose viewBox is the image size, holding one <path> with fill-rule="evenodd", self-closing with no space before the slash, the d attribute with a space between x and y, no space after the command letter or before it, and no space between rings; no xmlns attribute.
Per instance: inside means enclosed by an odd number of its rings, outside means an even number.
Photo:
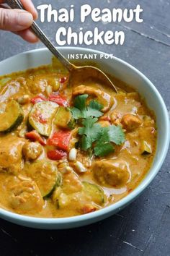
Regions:
<svg viewBox="0 0 170 256"><path fill-rule="evenodd" d="M118 93L68 77L54 60L0 77L1 208L91 213L132 192L151 167L156 120L140 95L114 78Z"/></svg>

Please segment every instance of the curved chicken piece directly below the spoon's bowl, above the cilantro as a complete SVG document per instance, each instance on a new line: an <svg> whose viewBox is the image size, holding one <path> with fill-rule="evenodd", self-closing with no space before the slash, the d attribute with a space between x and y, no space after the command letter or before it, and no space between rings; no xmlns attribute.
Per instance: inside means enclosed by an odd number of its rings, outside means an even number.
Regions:
<svg viewBox="0 0 170 256"><path fill-rule="evenodd" d="M86 85L79 85L73 90L73 95L79 95L79 94L88 94L93 95L94 97L97 97L97 100L100 104L102 104L103 108L102 111L106 112L111 108L112 106L112 98L108 93L105 93L103 90L93 88Z"/></svg>

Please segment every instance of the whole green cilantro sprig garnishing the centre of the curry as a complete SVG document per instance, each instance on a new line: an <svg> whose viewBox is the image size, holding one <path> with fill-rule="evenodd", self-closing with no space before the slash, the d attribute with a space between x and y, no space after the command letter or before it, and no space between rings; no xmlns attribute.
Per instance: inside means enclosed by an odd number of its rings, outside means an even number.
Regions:
<svg viewBox="0 0 170 256"><path fill-rule="evenodd" d="M122 127L110 125L102 127L97 123L98 117L102 116L103 106L97 101L90 101L86 105L89 95L79 95L75 98L74 107L71 108L73 118L82 119L82 127L79 128L81 140L79 147L82 150L90 150L96 156L105 156L114 152L115 145L125 142L125 133Z"/></svg>

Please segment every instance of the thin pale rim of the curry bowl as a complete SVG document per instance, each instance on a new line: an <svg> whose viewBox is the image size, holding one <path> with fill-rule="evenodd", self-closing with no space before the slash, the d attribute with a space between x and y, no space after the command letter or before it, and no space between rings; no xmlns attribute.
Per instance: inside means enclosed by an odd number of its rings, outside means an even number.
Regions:
<svg viewBox="0 0 170 256"><path fill-rule="evenodd" d="M73 51L88 51L89 54L106 54L102 51L97 51L94 49L88 49L88 48L82 48L82 47L71 47L71 46L64 46L64 47L58 47L59 50L65 51L65 50L73 50ZM25 54L34 54L35 52L40 52L40 51L48 51L47 48L38 48L38 49L33 49L30 51L24 51L21 54L17 54L14 56L11 56L7 59L4 59L0 61L1 64L5 64L5 61L9 61L10 59L16 58L18 56L22 56ZM116 60L117 62L120 62L120 64L123 64L124 66L130 68L133 70L133 72L137 73L139 77L142 77L143 80L146 81L146 83L149 85L149 87L153 90L153 92L156 94L159 103L161 104L162 108L162 113L164 114L164 131L165 131L165 139L164 139L164 147L162 147L161 153L159 155L158 160L156 160L158 163L157 165L153 168L153 171L151 173L148 173L148 175L138 184L138 187L136 187L133 192L130 192L129 195L123 197L120 201L115 202L112 205L108 205L105 208L99 209L96 212L93 213L88 213L80 216L73 216L73 217L66 217L66 218L39 218L39 217L32 217L32 216L24 216L20 215L18 213L13 213L9 210L5 210L3 208L0 208L0 217L4 218L8 221L12 221L14 223L19 223L22 222L22 225L26 223L30 224L40 224L40 225L48 225L48 224L55 224L54 228L57 228L57 225L61 224L73 224L73 223L81 223L84 221L88 220L94 220L97 218L100 218L102 216L108 216L111 215L113 211L118 211L122 208L125 207L125 205L128 205L130 202L135 200L138 195L140 195L146 187L152 182L156 174L158 174L158 171L160 170L162 164L164 163L164 160L166 158L166 154L169 149L169 142L170 142L170 130L169 130L169 113L167 111L166 105L164 103L163 98L161 97L161 94L158 93L158 90L156 87L153 85L153 83L143 74L141 73L138 69L133 67L133 65L128 64L128 62L123 61L122 59L119 59L114 56L113 60ZM151 167L152 168L152 167ZM81 226L81 225L80 225Z"/></svg>

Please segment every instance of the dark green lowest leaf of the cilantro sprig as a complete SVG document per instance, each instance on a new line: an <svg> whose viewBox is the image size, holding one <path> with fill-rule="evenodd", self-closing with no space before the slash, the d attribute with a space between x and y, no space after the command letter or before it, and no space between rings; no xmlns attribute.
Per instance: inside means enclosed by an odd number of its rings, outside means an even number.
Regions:
<svg viewBox="0 0 170 256"><path fill-rule="evenodd" d="M109 153L114 152L114 146L107 142L107 143L97 143L97 145L94 147L94 155L97 156L105 156Z"/></svg>

